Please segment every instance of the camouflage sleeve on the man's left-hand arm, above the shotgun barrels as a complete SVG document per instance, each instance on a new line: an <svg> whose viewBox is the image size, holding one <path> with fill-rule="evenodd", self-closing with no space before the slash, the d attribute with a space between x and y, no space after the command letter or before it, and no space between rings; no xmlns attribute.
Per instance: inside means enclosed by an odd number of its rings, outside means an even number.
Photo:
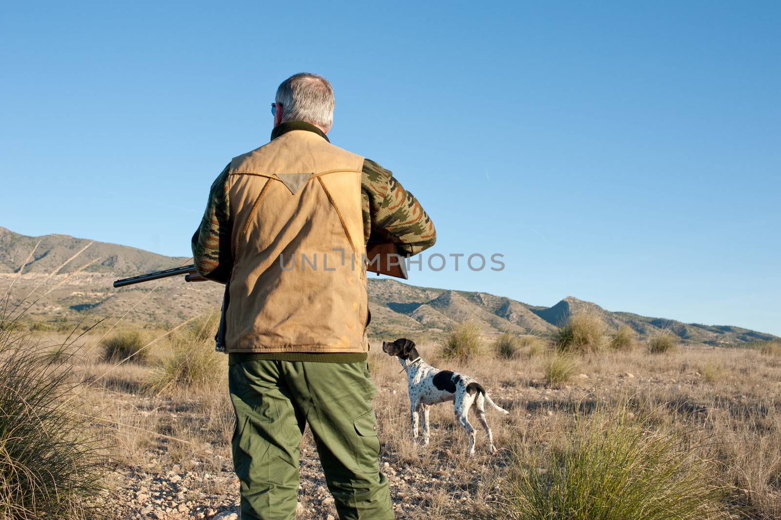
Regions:
<svg viewBox="0 0 781 520"><path fill-rule="evenodd" d="M209 280L227 283L233 269L230 250L230 205L226 180L230 164L223 169L209 190L201 225L192 240L193 262L198 274Z"/></svg>

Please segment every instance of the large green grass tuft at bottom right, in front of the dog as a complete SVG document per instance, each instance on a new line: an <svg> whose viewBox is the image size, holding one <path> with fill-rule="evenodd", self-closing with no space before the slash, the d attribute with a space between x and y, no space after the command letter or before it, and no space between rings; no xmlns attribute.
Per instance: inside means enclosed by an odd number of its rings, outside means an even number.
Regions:
<svg viewBox="0 0 781 520"><path fill-rule="evenodd" d="M717 520L730 518L712 465L691 432L652 430L626 409L576 415L547 447L518 443L500 500L480 518Z"/></svg>

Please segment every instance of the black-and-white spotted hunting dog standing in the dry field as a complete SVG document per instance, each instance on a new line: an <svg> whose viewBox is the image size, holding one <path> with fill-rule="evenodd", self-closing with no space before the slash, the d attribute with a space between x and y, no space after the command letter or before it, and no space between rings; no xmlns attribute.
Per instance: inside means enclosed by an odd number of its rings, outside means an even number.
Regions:
<svg viewBox="0 0 781 520"><path fill-rule="evenodd" d="M409 416L412 421L412 437L418 438L418 422L420 412L423 412L423 446L429 443L429 407L432 404L453 401L455 422L458 422L469 433L469 454L475 452L475 429L469 424L469 408L474 406L477 418L488 436L488 451L494 453L494 436L490 432L486 421L484 403L508 414L504 408L499 408L486 393L483 386L474 379L458 372L435 369L423 362L415 342L406 338L400 338L392 343L383 341L383 352L396 356L398 362L407 372L409 392Z"/></svg>

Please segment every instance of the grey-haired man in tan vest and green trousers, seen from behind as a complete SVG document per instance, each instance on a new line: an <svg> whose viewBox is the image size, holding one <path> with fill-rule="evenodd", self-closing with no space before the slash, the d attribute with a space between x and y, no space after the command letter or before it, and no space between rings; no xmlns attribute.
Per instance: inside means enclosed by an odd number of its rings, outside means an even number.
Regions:
<svg viewBox="0 0 781 520"><path fill-rule="evenodd" d="M415 255L436 233L391 172L330 144L333 105L325 78L285 80L271 142L219 174L193 237L198 273L228 284L243 520L295 518L306 424L340 518L394 518L378 464L362 258L370 235Z"/></svg>

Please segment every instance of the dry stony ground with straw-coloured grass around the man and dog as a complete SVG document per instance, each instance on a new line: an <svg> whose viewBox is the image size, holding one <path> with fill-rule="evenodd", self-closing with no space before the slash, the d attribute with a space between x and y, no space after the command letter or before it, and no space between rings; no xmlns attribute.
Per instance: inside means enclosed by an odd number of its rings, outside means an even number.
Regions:
<svg viewBox="0 0 781 520"><path fill-rule="evenodd" d="M577 410L599 399L659 408L665 422L694 425L708 436L704 456L734 486L734 518L781 518L781 356L756 350L681 347L672 353L602 351L578 358L560 388L544 383L547 354L466 365L437 359L436 345L419 350L440 368L469 373L511 413L488 411L500 451L487 454L478 428L477 454L465 456L466 436L450 404L432 409L432 443L419 447L409 431L405 374L373 341L369 364L375 407L397 518L463 518L470 502L492 500L513 442L547 443ZM234 511L237 479L230 462L233 411L223 375L209 390L149 394L148 365L114 367L99 361L87 341L84 369L89 402L105 418L116 445L109 465L111 505L105 518L210 518ZM155 354L152 355L154 358ZM223 380L220 381L219 378ZM474 422L477 426L476 421ZM298 518L336 517L310 437L301 447Z"/></svg>

